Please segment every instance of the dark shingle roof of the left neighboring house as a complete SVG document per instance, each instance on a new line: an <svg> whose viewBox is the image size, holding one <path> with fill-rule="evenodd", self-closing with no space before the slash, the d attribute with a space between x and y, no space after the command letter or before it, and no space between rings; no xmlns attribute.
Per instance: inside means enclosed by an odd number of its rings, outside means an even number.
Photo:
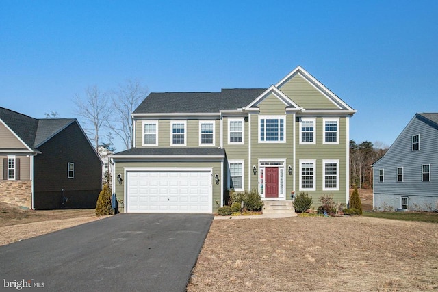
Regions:
<svg viewBox="0 0 438 292"><path fill-rule="evenodd" d="M75 119L36 119L0 107L0 119L30 148L36 149Z"/></svg>

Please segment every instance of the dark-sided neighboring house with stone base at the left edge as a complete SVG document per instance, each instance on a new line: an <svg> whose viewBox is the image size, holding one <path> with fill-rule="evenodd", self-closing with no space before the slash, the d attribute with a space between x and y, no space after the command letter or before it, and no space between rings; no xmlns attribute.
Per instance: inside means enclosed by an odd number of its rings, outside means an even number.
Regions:
<svg viewBox="0 0 438 292"><path fill-rule="evenodd" d="M76 119L0 107L0 200L32 209L95 208L102 162Z"/></svg>

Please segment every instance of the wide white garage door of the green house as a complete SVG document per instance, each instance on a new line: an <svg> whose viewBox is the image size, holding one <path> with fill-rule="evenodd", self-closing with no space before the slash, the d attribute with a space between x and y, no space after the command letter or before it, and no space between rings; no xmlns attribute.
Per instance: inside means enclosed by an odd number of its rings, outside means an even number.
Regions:
<svg viewBox="0 0 438 292"><path fill-rule="evenodd" d="M127 212L212 213L210 171L127 172Z"/></svg>

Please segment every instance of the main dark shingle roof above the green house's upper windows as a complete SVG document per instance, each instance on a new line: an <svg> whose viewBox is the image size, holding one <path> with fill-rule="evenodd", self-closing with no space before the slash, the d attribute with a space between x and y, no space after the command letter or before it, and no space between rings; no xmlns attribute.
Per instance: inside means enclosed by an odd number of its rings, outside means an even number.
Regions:
<svg viewBox="0 0 438 292"><path fill-rule="evenodd" d="M266 89L222 89L221 92L153 92L133 114L219 113L245 107Z"/></svg>

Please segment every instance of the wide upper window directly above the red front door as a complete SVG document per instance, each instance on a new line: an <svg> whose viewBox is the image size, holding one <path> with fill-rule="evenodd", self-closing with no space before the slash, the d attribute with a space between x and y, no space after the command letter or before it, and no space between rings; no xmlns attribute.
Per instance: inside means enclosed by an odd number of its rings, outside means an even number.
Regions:
<svg viewBox="0 0 438 292"><path fill-rule="evenodd" d="M285 118L260 117L259 142L285 142Z"/></svg>

